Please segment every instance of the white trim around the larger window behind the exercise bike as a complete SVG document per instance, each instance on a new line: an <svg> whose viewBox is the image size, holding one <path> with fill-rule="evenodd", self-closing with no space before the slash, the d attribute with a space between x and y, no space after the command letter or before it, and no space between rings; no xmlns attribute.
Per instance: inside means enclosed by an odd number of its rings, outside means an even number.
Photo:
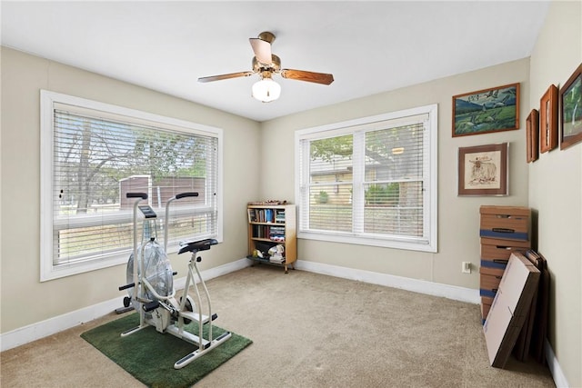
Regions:
<svg viewBox="0 0 582 388"><path fill-rule="evenodd" d="M218 166L216 182L216 201L218 209L216 240L223 241L223 130L204 124L151 114L135 109L100 103L72 95L63 95L47 90L40 91L40 281L45 282L74 274L82 274L114 265L125 264L129 254L115 254L98 262L53 265L53 138L55 104L73 105L80 109L87 108L101 111L104 116L116 114L126 116L128 120L146 120L161 127L172 127L188 134L212 135L218 142ZM168 254L177 252L177 245L168 247Z"/></svg>

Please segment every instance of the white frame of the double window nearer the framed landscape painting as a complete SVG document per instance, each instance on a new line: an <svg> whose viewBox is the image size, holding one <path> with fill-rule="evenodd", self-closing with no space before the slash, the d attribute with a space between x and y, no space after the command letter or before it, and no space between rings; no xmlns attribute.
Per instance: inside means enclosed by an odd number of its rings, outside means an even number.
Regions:
<svg viewBox="0 0 582 388"><path fill-rule="evenodd" d="M302 182L302 178L307 180L309 179L309 152L305 149L301 150L302 146L307 146L306 144L308 144L308 142L303 142L304 140L313 141L345 134L355 134L356 132L364 131L366 127L374 125L378 122L398 122L403 119L406 120L406 117L419 114L427 114L428 116L425 123L425 128L426 131L428 131L426 139L429 142L429 144L426 146L425 152L425 157L428 161L428 166L426 168L426 174L428 174L428 176L424 178L424 182L428 184L428 187L424 187L427 194L424 195L423 198L423 215L426 224L427 235L423 237L422 240L412 237L394 236L389 234L365 235L302 229L301 225L303 223L301 221L301 217L305 216L303 212L304 209L302 207L305 204L305 199L302 197L302 186L306 184L306 182ZM297 130L295 133L295 201L297 204L298 216L297 238L437 253L437 124L437 104L429 104L386 114L377 114L373 116L366 116L353 120ZM356 138L354 139L354 146L356 146ZM354 153L356 154L356 150ZM306 160L301 160L302 155L306 158ZM302 171L302 167L305 168L306 171ZM354 165L354 170L357 168L361 168L363 170L364 164ZM354 195L356 197L356 190ZM308 198L306 200L308 201ZM352 204L354 205L356 203L362 202L356 201L355 198Z"/></svg>

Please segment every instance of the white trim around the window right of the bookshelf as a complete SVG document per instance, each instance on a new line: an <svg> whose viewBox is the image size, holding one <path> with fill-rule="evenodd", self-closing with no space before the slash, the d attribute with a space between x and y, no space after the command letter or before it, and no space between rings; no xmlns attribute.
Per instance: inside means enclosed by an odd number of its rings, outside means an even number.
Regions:
<svg viewBox="0 0 582 388"><path fill-rule="evenodd" d="M438 125L438 109L437 104L430 104L426 106L419 106L416 108L405 109L397 112L391 112L386 114L378 114L374 116L357 118L354 120L348 120L339 123L325 124L321 126L316 126L312 128L306 128L296 131L295 134L295 202L298 206L298 214L301 214L301 160L300 160L300 146L301 141L306 139L319 139L326 137L340 136L342 134L351 134L354 132L354 127L361 127L363 125L374 125L376 122L386 121L386 120L397 120L406 118L406 116L413 116L418 114L428 114L428 120L426 122L427 130L429 131L428 137L430 145L428 147L428 169L429 169L429 187L425 187L427 195L425 196L425 206L429 208L426 213L427 220L425 218L425 223L428 227L427 242L420 243L418 241L413 241L413 239L407 239L403 236L397 236L392 239L385 235L375 238L373 236L356 236L353 234L339 234L334 232L325 231L301 231L297 230L297 238L304 238L308 240L320 240L335 243L346 243L346 244L363 244L372 246L382 246L395 249L405 249L421 252L431 252L437 253L437 125ZM406 120L406 119L405 119ZM303 153L306 158L309 157L309 153Z"/></svg>

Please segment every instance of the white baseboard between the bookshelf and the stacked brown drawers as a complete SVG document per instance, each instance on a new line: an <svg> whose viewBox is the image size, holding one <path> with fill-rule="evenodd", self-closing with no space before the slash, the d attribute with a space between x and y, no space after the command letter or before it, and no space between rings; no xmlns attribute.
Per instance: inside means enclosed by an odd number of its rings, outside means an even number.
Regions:
<svg viewBox="0 0 582 388"><path fill-rule="evenodd" d="M388 287L401 288L415 293L443 296L448 299L467 303L480 303L479 290L458 287L456 285L427 282L426 280L411 279L393 274L378 274L371 271L357 270L354 268L339 267L336 265L319 264L313 262L297 261L295 267L300 270L316 274L328 274L330 276L360 282L386 285Z"/></svg>

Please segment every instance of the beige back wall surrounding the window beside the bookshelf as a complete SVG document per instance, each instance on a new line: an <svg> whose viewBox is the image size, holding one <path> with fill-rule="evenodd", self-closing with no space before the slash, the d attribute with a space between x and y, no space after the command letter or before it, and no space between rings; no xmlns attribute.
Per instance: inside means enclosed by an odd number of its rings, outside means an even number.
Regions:
<svg viewBox="0 0 582 388"><path fill-rule="evenodd" d="M529 60L488 67L393 92L293 114L262 126L264 149L276 149L277 161L265 155L262 165L263 198L295 202L295 131L341 122L367 115L383 114L427 104L438 104L438 253L421 253L364 245L299 240L297 258L321 264L394 274L441 284L478 288L479 206L481 204L527 206L527 164L525 120L529 96ZM522 99L520 128L494 134L451 136L452 96L493 86L520 83ZM333 84L329 87L333 88ZM363 86L365 87L365 86ZM524 104L525 97L525 104ZM509 196L457 196L457 149L461 146L508 142ZM282 146L282 145L286 146ZM461 274L461 262L473 264L472 274Z"/></svg>

